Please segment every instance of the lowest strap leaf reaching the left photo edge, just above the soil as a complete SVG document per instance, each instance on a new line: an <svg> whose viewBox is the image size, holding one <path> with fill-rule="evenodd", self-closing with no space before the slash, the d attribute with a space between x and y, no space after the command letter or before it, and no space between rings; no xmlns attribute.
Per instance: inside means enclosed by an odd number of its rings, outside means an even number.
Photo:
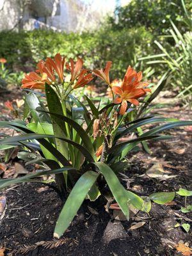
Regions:
<svg viewBox="0 0 192 256"><path fill-rule="evenodd" d="M1 179L0 180L0 189L10 186L11 184L26 182L26 180L29 181L30 179L33 179L35 177L39 177L42 175L58 174L58 173L72 171L72 170L76 170L76 169L72 168L71 166L67 166L67 167L56 169L56 170L47 170L47 171L43 171L43 172L27 174L27 175L24 175L24 177L20 177L17 179Z"/></svg>

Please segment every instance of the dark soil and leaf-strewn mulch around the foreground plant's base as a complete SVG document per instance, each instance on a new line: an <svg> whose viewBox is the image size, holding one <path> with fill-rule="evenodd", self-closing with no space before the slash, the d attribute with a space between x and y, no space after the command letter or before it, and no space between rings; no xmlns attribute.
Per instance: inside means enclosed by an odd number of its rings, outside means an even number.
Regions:
<svg viewBox="0 0 192 256"><path fill-rule="evenodd" d="M189 111L179 106L158 109L158 113L182 120L191 119ZM150 141L152 154L138 150L127 156L127 168L119 177L130 191L147 196L179 188L192 190L191 129L180 127L168 134L175 138ZM156 174L159 168L163 170L159 177L147 173L155 170ZM179 256L184 254L175 250L175 244L191 246L191 232L186 233L181 226L177 227L192 221L190 213L180 211L184 206L181 196L176 196L171 205L152 204L149 214L138 212L130 221L115 220L113 211L106 211L107 202L102 198L93 203L85 201L65 235L54 240L54 225L62 207L54 189L42 184L19 184L5 189L2 194L7 199L0 229L0 245L6 248L5 255ZM141 221L145 222L142 227L130 229Z"/></svg>

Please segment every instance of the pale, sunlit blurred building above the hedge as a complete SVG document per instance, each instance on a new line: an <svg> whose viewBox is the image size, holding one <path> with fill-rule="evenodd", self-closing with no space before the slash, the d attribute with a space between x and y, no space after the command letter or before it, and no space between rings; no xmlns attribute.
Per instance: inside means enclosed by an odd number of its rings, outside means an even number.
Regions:
<svg viewBox="0 0 192 256"><path fill-rule="evenodd" d="M0 31L95 29L106 14L130 0L0 0Z"/></svg>

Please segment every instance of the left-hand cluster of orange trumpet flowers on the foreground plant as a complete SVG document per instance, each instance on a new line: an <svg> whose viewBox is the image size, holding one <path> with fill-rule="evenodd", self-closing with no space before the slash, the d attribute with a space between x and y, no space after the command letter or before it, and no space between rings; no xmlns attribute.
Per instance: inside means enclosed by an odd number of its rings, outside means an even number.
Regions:
<svg viewBox="0 0 192 256"><path fill-rule="evenodd" d="M63 83L65 58L62 58L59 53L54 56L54 59L47 58L46 61L39 61L37 67L38 70L36 72L26 74L24 79L22 79L22 88L44 90L45 83L52 84L56 82L56 75L59 78L59 82ZM66 63L66 68L71 73L70 82L73 89L82 87L93 79L92 74L88 74L88 71L82 67L83 60L80 58L78 58L76 63L72 59L70 59L70 65Z"/></svg>

